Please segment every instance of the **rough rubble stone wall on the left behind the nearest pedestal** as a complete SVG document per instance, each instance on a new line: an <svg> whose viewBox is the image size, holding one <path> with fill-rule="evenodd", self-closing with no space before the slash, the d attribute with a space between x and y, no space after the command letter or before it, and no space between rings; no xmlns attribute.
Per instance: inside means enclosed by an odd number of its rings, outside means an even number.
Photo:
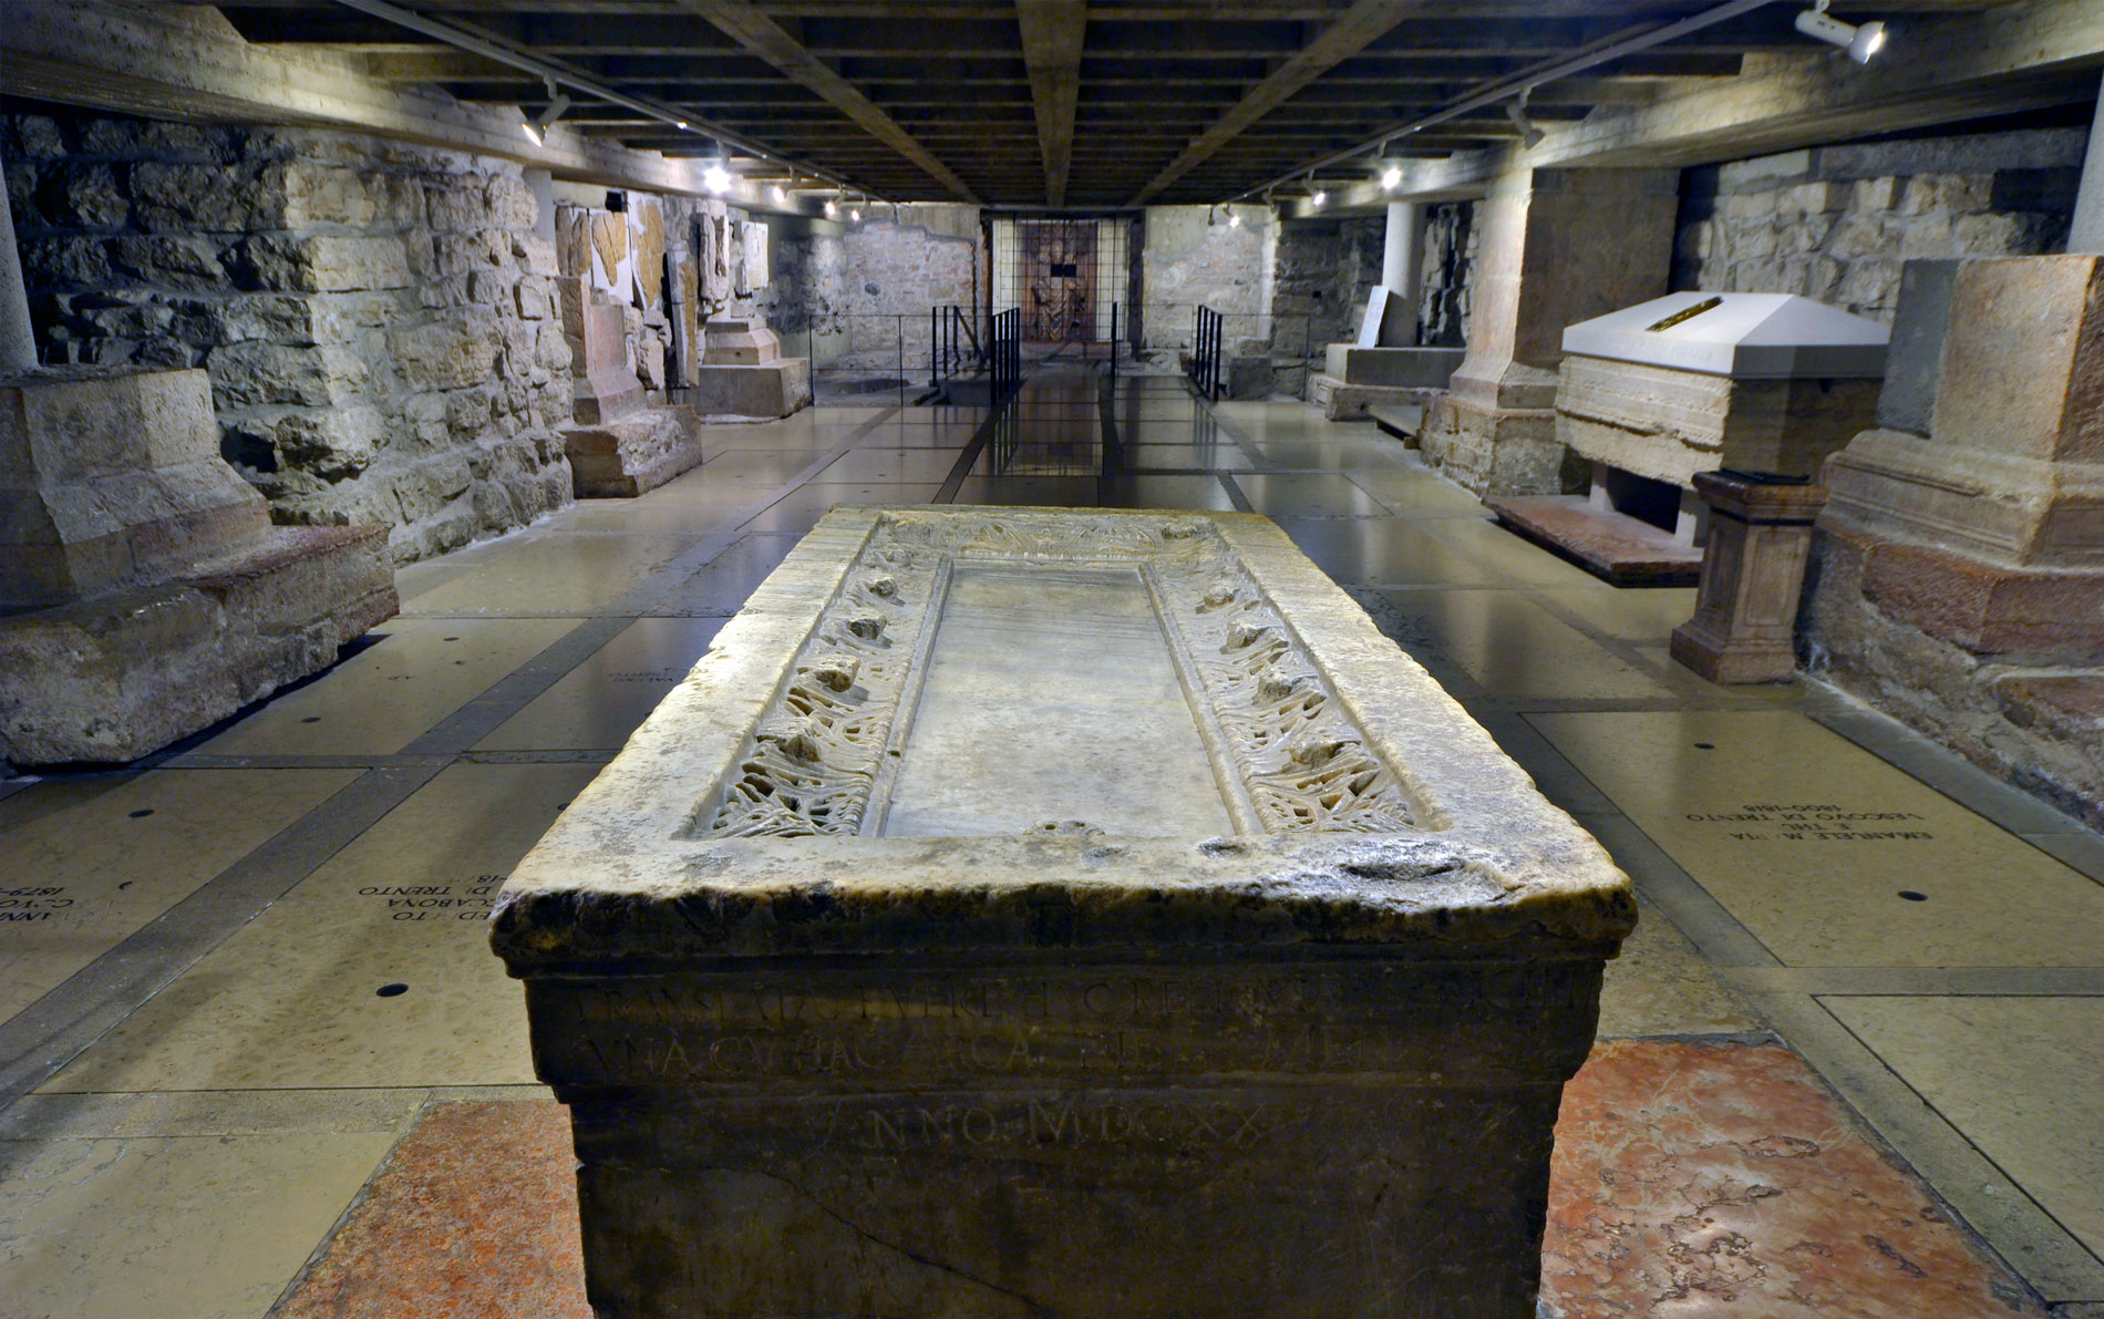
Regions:
<svg viewBox="0 0 2104 1319"><path fill-rule="evenodd" d="M520 166L322 130L0 118L46 362L202 366L286 524L398 562L568 503L555 255Z"/></svg>

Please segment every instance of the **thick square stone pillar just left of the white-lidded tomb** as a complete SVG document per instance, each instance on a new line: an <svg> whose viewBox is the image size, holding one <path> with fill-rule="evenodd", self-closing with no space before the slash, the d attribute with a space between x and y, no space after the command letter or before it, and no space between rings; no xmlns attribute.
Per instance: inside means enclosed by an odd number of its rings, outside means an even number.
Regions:
<svg viewBox="0 0 2104 1319"><path fill-rule="evenodd" d="M1677 170L1500 177L1477 208L1469 356L1427 417L1424 456L1479 494L1565 492L1563 328L1666 292L1677 212Z"/></svg>

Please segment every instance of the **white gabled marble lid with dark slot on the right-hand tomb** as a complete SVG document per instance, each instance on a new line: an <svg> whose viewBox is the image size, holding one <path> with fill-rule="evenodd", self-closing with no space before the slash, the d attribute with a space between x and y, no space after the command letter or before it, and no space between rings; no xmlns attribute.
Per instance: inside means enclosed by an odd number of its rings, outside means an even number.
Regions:
<svg viewBox="0 0 2104 1319"><path fill-rule="evenodd" d="M1891 332L1795 292L1668 292L1563 330L1563 351L1748 381L1883 377Z"/></svg>

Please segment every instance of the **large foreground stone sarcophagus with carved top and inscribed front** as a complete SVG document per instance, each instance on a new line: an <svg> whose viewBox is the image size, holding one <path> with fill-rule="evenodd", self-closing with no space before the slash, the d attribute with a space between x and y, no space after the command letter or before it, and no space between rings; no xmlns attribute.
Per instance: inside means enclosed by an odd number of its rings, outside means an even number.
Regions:
<svg viewBox="0 0 2104 1319"><path fill-rule="evenodd" d="M835 509L520 863L600 1315L1532 1319L1628 881L1267 520Z"/></svg>

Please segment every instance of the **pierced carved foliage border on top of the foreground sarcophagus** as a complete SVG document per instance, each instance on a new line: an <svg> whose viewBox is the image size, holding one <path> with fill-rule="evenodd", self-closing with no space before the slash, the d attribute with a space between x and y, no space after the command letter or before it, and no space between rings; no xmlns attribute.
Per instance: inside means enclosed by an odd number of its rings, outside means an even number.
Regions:
<svg viewBox="0 0 2104 1319"><path fill-rule="evenodd" d="M863 831L949 568L991 562L1138 570L1197 688L1189 692L1193 713L1218 732L1222 778L1235 780L1222 791L1246 793L1260 831L1414 827L1395 770L1365 745L1292 627L1206 518L901 511L877 522L696 833Z"/></svg>

